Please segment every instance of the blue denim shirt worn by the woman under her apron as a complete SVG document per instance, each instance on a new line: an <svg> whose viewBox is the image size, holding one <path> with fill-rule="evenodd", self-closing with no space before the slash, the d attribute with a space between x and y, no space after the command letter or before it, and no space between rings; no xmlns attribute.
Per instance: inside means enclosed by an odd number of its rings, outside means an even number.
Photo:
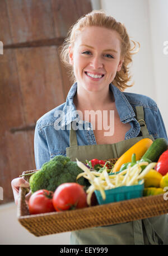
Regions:
<svg viewBox="0 0 168 256"><path fill-rule="evenodd" d="M155 101L144 95L121 92L112 83L109 85L109 90L113 92L120 121L131 125L129 131L125 133L125 139L135 138L140 132L140 125L134 112L136 106L143 106L144 120L153 138L167 139L165 125ZM76 91L77 83L74 83L68 92L66 103L50 110L36 122L34 136L36 169L40 169L44 162L56 155L66 156L72 121L76 121L79 125L76 131L78 146L96 144L91 123L80 120L78 117L76 106L73 103Z"/></svg>

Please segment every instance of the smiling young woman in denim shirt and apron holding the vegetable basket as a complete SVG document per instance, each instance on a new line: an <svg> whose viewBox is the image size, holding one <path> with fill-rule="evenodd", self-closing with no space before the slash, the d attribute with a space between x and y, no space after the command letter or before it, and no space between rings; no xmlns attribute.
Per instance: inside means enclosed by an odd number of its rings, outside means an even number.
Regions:
<svg viewBox="0 0 168 256"><path fill-rule="evenodd" d="M71 27L60 56L71 68L74 83L66 103L36 124L37 169L55 155L72 161L109 159L120 157L142 138L167 139L155 101L123 92L129 87L133 44L124 25L102 11L88 13ZM29 185L23 182L12 181L16 203L18 187ZM166 232L163 215L73 231L71 244L164 244Z"/></svg>

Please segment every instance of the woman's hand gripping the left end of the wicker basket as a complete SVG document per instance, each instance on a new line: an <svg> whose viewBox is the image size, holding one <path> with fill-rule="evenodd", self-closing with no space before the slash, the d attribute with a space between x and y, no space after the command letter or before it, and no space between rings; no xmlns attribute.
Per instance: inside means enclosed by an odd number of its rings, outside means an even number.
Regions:
<svg viewBox="0 0 168 256"><path fill-rule="evenodd" d="M13 196L15 199L15 203L17 204L18 201L18 190L20 187L22 188L29 188L29 182L27 182L25 179L23 178L15 178L11 181L11 186L12 186L12 190L13 190ZM29 198L31 196L31 190L29 193L26 194L26 203L29 201Z"/></svg>

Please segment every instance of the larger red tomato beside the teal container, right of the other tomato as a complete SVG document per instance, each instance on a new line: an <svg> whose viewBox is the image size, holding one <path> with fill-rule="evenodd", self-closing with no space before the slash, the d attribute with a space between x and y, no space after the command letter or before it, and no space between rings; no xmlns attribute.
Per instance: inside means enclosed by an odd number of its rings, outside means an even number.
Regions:
<svg viewBox="0 0 168 256"><path fill-rule="evenodd" d="M54 192L53 205L56 211L87 207L85 190L78 183L63 183Z"/></svg>

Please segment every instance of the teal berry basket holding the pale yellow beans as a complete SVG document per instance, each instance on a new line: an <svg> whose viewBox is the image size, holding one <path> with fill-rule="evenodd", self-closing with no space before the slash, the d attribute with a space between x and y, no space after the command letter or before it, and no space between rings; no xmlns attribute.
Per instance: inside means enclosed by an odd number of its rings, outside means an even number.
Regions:
<svg viewBox="0 0 168 256"><path fill-rule="evenodd" d="M99 204L114 203L128 199L138 198L143 196L144 183L140 181L137 185L122 186L105 190L106 198L102 198L99 190L95 190L96 198Z"/></svg>

